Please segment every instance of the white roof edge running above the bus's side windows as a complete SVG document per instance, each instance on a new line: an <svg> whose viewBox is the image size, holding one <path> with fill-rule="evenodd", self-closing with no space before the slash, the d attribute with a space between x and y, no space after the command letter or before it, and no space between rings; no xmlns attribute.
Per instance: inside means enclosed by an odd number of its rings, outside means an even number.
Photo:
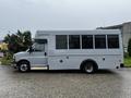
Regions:
<svg viewBox="0 0 131 98"><path fill-rule="evenodd" d="M95 34L120 34L119 29L94 29L94 30L37 30L35 36L45 35L95 35Z"/></svg>

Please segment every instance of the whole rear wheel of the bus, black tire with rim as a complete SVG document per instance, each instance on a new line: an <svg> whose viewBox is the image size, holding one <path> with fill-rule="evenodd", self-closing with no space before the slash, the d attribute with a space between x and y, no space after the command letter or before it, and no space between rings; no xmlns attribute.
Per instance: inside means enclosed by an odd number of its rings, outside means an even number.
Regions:
<svg viewBox="0 0 131 98"><path fill-rule="evenodd" d="M86 62L84 63L83 70L87 74L92 74L96 71L94 62Z"/></svg>

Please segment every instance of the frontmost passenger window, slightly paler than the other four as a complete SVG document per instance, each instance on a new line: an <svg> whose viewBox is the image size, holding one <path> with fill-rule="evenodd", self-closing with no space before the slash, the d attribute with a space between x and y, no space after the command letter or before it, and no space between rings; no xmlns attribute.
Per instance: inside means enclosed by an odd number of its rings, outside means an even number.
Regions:
<svg viewBox="0 0 131 98"><path fill-rule="evenodd" d="M67 35L56 35L56 49L68 49Z"/></svg>

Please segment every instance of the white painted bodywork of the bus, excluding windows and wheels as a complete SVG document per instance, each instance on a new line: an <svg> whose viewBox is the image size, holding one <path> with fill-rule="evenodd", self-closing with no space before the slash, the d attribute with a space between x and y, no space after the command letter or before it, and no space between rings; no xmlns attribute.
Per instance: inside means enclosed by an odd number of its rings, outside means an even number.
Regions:
<svg viewBox="0 0 131 98"><path fill-rule="evenodd" d="M120 40L119 49L59 49L56 50L56 35L107 35L118 34ZM16 61L26 59L32 68L49 65L49 70L80 69L84 60L95 61L99 69L116 69L123 63L122 39L119 30L40 30L36 33L37 39L47 39L46 51L23 52L14 54ZM20 58L19 58L20 57ZM104 60L105 59L105 60Z"/></svg>

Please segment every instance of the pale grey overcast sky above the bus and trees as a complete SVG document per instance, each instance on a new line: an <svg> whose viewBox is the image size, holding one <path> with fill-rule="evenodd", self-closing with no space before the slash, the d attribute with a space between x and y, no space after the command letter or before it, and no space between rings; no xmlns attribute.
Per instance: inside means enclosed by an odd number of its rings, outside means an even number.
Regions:
<svg viewBox="0 0 131 98"><path fill-rule="evenodd" d="M0 0L0 39L17 29L95 29L131 21L131 0ZM10 30L10 32L9 32Z"/></svg>

